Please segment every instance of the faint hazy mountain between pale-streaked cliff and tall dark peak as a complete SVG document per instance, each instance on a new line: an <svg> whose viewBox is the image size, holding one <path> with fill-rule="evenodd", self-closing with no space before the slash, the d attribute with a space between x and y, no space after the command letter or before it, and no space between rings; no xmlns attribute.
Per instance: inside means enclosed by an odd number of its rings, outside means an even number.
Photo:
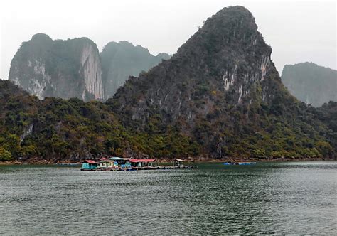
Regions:
<svg viewBox="0 0 337 236"><path fill-rule="evenodd" d="M113 97L130 75L138 76L141 71L147 71L161 60L170 58L166 53L151 55L146 48L127 41L108 43L100 55L106 99Z"/></svg>

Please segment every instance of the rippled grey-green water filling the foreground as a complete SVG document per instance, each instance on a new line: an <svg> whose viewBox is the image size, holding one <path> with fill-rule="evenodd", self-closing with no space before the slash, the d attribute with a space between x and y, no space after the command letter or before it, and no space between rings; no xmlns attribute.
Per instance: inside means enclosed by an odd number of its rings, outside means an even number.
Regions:
<svg viewBox="0 0 337 236"><path fill-rule="evenodd" d="M83 172L0 166L0 233L337 234L337 162Z"/></svg>

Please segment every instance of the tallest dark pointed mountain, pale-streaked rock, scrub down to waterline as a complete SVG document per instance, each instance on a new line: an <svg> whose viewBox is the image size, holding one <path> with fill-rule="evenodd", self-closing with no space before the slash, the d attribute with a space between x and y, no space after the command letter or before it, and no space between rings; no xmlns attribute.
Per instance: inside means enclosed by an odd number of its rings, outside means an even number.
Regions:
<svg viewBox="0 0 337 236"><path fill-rule="evenodd" d="M315 156L305 104L284 88L271 53L247 9L224 8L108 104L124 125L149 134L177 130L206 156Z"/></svg>

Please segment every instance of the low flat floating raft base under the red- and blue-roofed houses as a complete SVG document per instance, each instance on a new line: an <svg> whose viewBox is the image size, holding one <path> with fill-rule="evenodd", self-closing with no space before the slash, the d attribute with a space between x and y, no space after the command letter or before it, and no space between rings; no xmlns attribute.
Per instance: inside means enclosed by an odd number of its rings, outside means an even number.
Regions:
<svg viewBox="0 0 337 236"><path fill-rule="evenodd" d="M173 170L173 169L188 169L198 168L198 166L144 166L144 167L132 167L132 168L95 168L85 169L81 168L81 171L150 171L150 170Z"/></svg>

